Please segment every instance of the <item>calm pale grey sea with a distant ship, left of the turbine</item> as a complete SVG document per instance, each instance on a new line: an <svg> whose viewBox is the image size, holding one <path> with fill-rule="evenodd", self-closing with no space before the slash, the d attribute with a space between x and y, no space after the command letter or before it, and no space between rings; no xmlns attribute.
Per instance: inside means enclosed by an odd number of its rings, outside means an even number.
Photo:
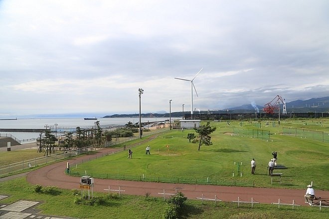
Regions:
<svg viewBox="0 0 329 219"><path fill-rule="evenodd" d="M171 117L171 120L176 120L181 118ZM168 117L149 117L141 118L142 122L157 122L169 120ZM84 120L84 118L28 118L28 119L18 119L17 120L0 120L0 128L38 128L59 131L61 128L72 128L75 130L76 127L80 128L91 128L95 126L95 122L99 121L102 125L125 125L129 121L134 124L139 122L139 117L133 118L97 118L97 120ZM57 125L55 125L57 124ZM11 134L19 140L31 139L39 137L39 132L0 132L1 136L4 134ZM60 133L57 132L59 135Z"/></svg>

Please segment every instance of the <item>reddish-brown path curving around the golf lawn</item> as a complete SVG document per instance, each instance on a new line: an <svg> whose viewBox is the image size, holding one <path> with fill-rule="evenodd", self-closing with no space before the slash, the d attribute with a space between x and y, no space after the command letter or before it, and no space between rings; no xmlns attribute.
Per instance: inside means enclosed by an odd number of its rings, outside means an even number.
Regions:
<svg viewBox="0 0 329 219"><path fill-rule="evenodd" d="M151 136L143 142L149 141L157 136ZM127 145L127 149L140 143ZM121 148L102 148L99 153L112 153L122 150ZM26 179L31 184L39 184L42 186L57 186L63 189L79 189L79 177L72 177L65 174L66 163L79 162L88 157L99 157L99 153L94 155L86 155L83 157L76 157L71 160L66 160L54 163L35 171L29 172ZM163 197L162 194L174 193L175 190L181 191L188 199L196 199L201 197L214 199L221 199L225 202L237 201L238 197L243 201L251 201L259 203L292 203L295 200L296 204L308 205L304 203L305 190L295 189L269 189L269 188L253 188L253 187L233 187L233 186L214 186L214 185L192 185L192 184L174 184L174 183L152 183L152 182L136 182L124 180L108 180L108 179L95 179L94 191L106 192L104 189L120 189L125 190L123 194L141 195L146 193L154 197ZM329 198L329 191L316 191L317 196Z"/></svg>

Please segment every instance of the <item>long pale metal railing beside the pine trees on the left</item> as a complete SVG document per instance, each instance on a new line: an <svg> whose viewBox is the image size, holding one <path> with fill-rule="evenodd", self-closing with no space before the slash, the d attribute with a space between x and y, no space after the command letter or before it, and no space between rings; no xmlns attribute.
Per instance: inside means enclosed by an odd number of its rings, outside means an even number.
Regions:
<svg viewBox="0 0 329 219"><path fill-rule="evenodd" d="M58 160L62 160L68 157L76 156L78 154L85 153L87 151L93 151L93 150L94 150L94 146L89 146L89 147L74 149L70 151L63 151L60 153L55 153L44 157L38 157L31 160L25 160L17 163L4 165L0 167L0 176L8 175L17 171L23 171L43 164L56 162Z"/></svg>

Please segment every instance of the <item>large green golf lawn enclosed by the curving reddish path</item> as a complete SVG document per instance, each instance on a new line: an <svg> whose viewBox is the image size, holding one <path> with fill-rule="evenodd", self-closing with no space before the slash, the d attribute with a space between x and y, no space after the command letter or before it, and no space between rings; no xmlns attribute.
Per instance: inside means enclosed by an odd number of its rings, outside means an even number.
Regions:
<svg viewBox="0 0 329 219"><path fill-rule="evenodd" d="M304 189L313 181L317 190L329 190L329 143L312 137L282 135L283 127L328 131L328 120L282 120L280 126L273 125L272 121L269 124L265 125L263 121L259 128L258 122L230 121L229 125L226 121L211 122L217 127L211 134L213 145L201 146L200 151L197 144L189 143L186 138L187 133L195 133L194 130L171 130L132 148L133 159L127 159L128 152L123 151L79 164L77 168L73 165L71 172L80 175L87 172L98 178L269 188ZM266 130L270 135L262 139L232 136L237 128ZM145 154L147 145L151 146L151 155ZM271 185L270 178L265 175L268 162L273 158L272 151L278 151L277 163L287 167L274 172L283 173L282 179L292 179L292 185ZM252 158L256 160L256 175L250 173Z"/></svg>

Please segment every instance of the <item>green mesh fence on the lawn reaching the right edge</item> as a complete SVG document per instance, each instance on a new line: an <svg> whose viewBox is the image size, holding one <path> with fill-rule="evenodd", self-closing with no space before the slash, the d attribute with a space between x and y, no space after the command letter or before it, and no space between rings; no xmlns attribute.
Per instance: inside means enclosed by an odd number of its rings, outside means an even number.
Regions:
<svg viewBox="0 0 329 219"><path fill-rule="evenodd" d="M329 133L324 131L308 130L304 128L283 127L282 133L295 137L313 139L329 143Z"/></svg>

